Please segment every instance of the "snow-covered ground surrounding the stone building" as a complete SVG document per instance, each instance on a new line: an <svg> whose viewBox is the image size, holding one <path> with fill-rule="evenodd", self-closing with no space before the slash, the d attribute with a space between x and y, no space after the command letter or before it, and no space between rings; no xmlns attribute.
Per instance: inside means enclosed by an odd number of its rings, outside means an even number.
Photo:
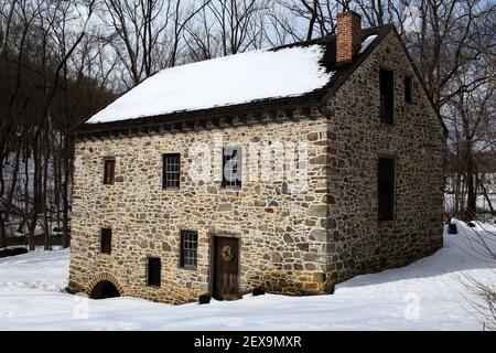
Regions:
<svg viewBox="0 0 496 353"><path fill-rule="evenodd" d="M355 277L334 295L248 295L205 306L65 293L67 250L3 258L0 330L482 330L460 279L465 274L496 284L496 263L482 256L468 227L459 223L459 231L444 235L444 247L431 257Z"/></svg>

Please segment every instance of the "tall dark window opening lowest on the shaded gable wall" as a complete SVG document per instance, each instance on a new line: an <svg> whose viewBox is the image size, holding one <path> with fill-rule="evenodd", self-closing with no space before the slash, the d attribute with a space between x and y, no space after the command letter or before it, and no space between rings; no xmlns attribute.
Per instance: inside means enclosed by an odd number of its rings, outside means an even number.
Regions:
<svg viewBox="0 0 496 353"><path fill-rule="evenodd" d="M379 158L378 163L379 221L390 221L395 216L395 160Z"/></svg>

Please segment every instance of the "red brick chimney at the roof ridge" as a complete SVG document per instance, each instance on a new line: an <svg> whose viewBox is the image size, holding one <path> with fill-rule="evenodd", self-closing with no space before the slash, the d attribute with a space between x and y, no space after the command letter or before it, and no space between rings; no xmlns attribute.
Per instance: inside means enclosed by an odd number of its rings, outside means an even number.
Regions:
<svg viewBox="0 0 496 353"><path fill-rule="evenodd" d="M353 60L362 44L362 18L354 11L337 14L336 65Z"/></svg>

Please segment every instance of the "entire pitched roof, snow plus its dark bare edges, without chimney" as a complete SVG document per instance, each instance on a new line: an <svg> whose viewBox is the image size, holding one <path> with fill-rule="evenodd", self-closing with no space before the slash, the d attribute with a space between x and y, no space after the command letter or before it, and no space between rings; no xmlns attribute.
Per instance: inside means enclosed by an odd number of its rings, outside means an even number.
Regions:
<svg viewBox="0 0 496 353"><path fill-rule="evenodd" d="M270 50L165 68L86 120L79 131L157 124L196 113L227 111L269 104L320 103L337 89L390 26L363 30L352 64L336 66L336 38L322 36ZM200 115L198 115L200 117ZM148 119L155 118L155 119ZM114 124L112 124L114 122ZM115 124L118 122L118 124ZM100 124L101 127L100 127Z"/></svg>

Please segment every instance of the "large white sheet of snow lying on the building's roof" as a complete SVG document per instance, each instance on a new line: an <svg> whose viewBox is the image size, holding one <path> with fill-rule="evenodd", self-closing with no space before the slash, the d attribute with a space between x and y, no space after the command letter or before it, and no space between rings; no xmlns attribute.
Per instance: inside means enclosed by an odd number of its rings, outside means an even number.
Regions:
<svg viewBox="0 0 496 353"><path fill-rule="evenodd" d="M324 45L261 50L162 69L87 124L299 96L325 86Z"/></svg>

